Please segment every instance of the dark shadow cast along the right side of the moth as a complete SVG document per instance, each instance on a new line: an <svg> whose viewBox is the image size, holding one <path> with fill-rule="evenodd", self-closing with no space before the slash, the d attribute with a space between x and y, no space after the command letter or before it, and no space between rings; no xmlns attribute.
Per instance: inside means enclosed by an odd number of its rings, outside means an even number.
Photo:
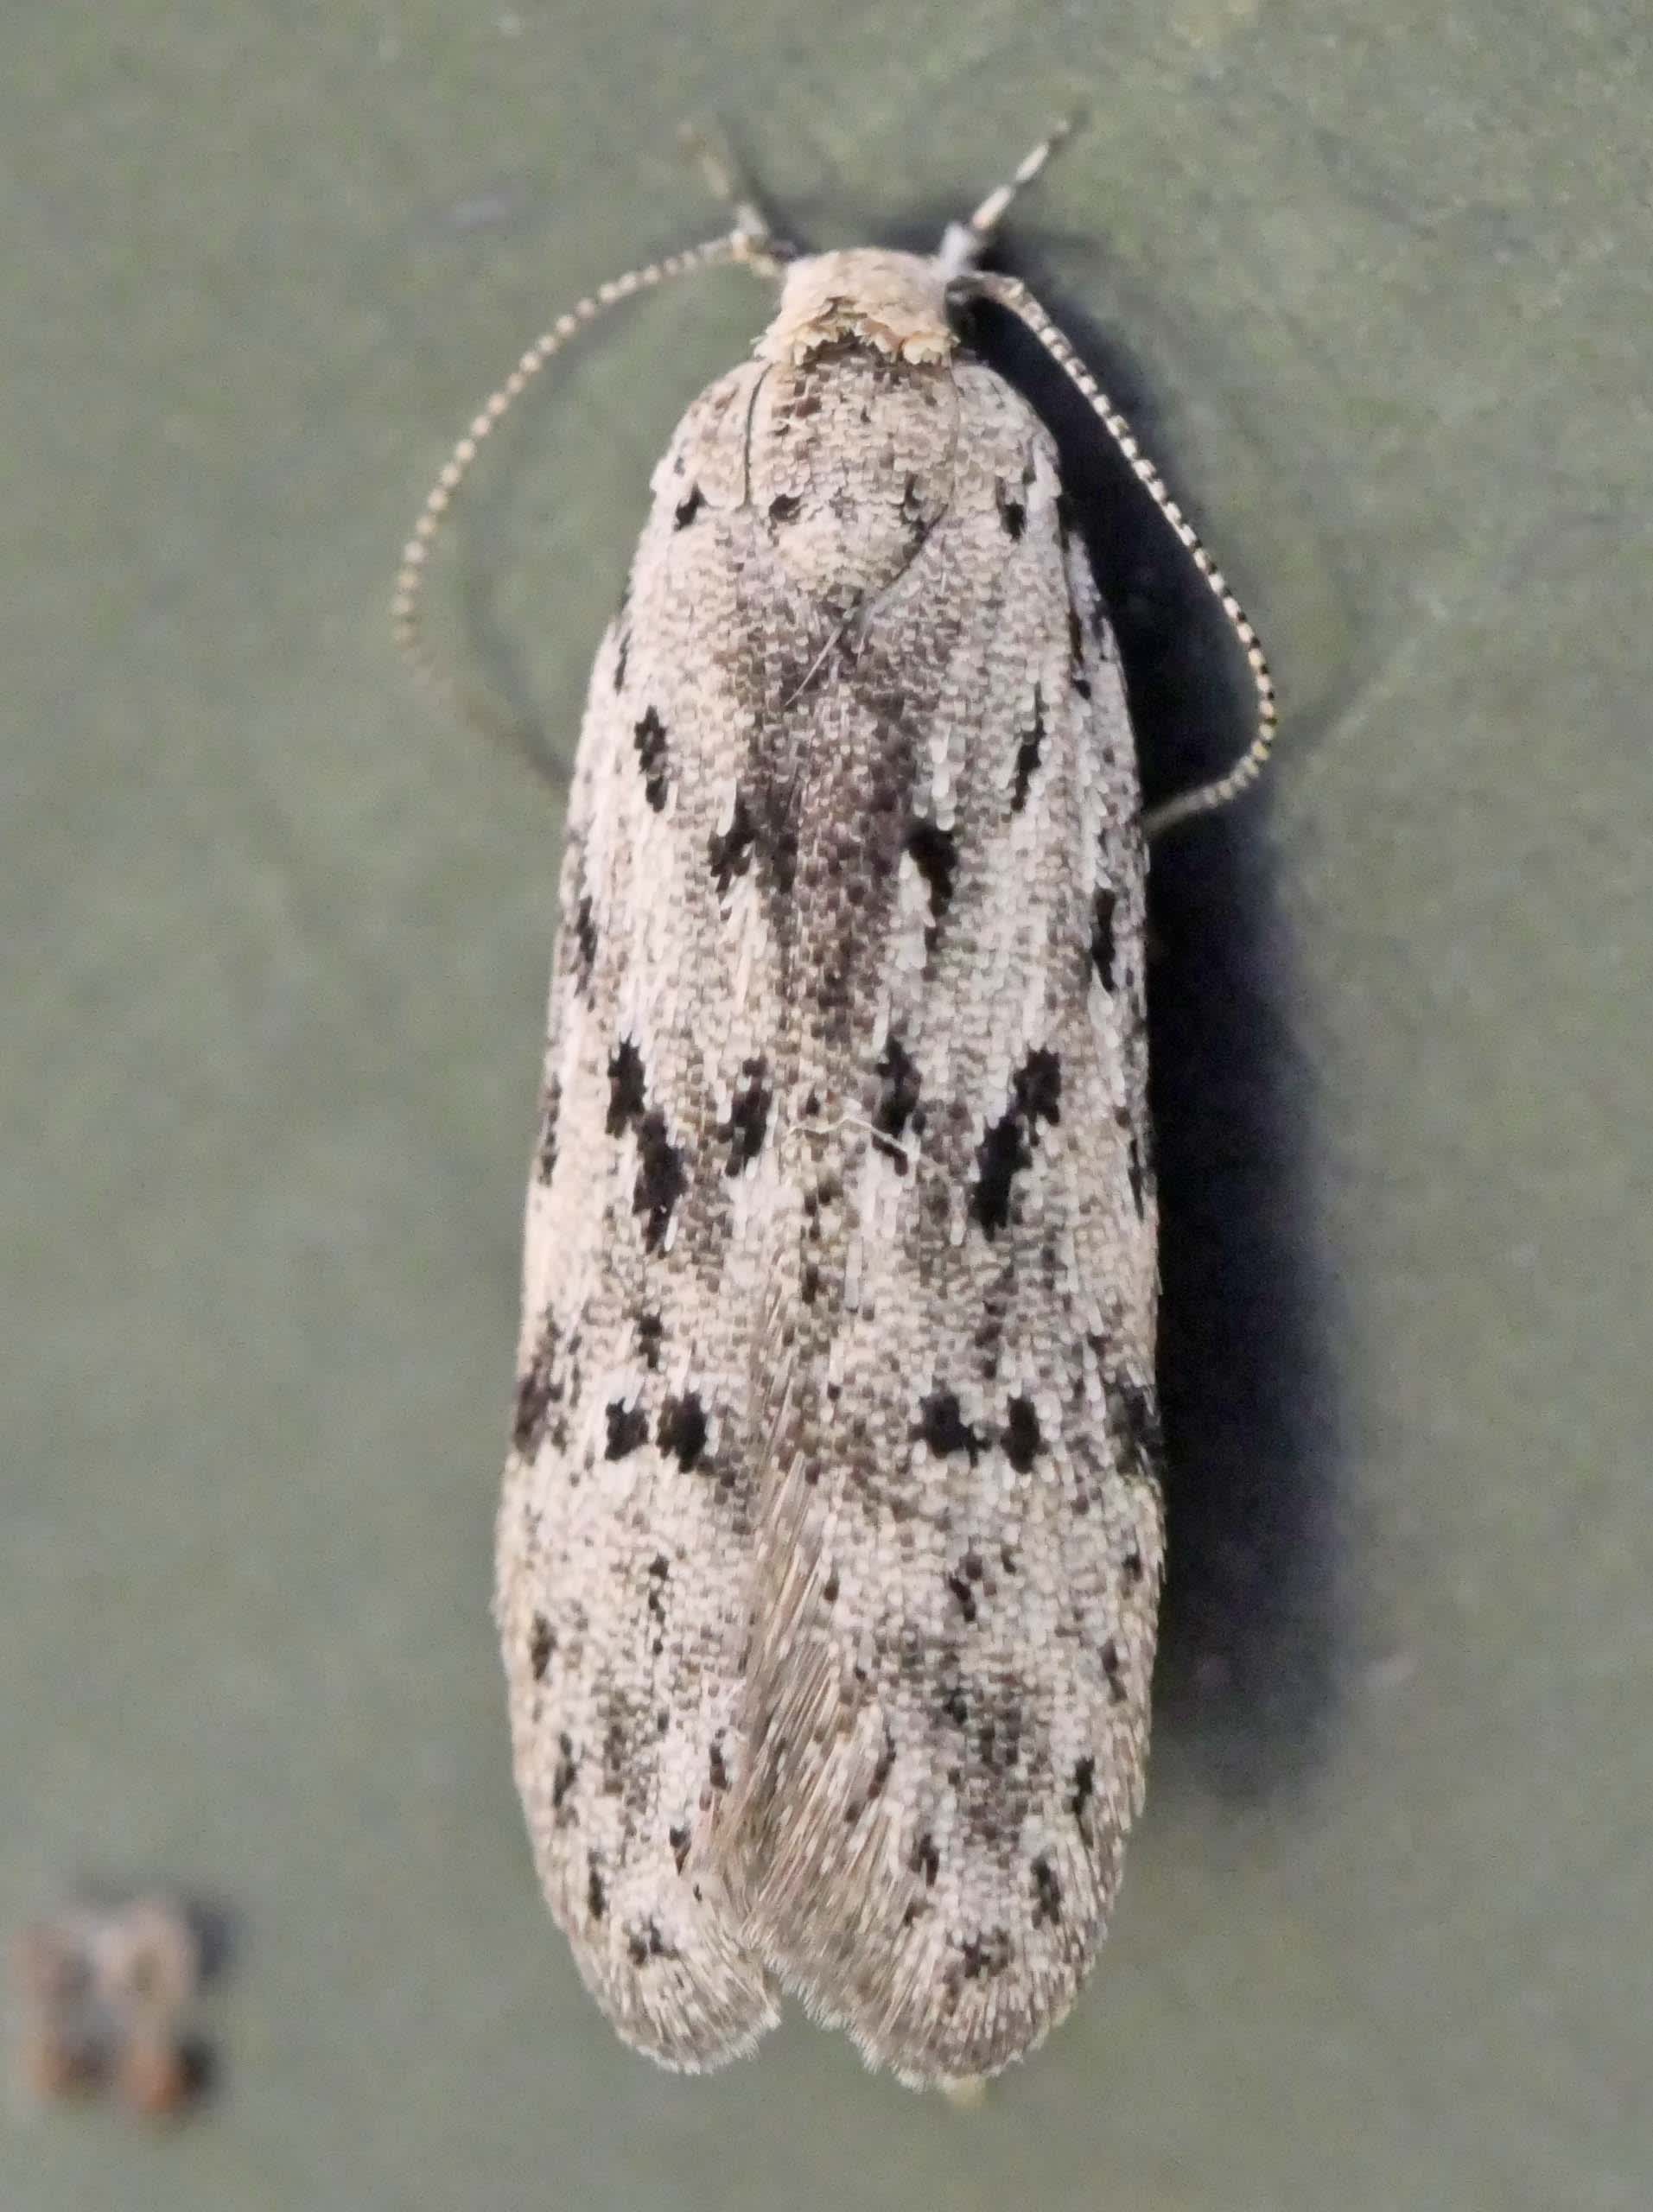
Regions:
<svg viewBox="0 0 1653 2212"><path fill-rule="evenodd" d="M1166 469L1133 363L1049 290L1042 299ZM1058 440L1120 639L1148 799L1217 774L1250 741L1255 697L1210 591L1027 332L991 310L974 338ZM1321 1756L1341 1644L1341 1422L1332 1281L1312 1217L1314 1086L1292 1037L1264 805L1266 783L1168 832L1148 891L1168 1469L1155 1730L1241 1796Z"/></svg>

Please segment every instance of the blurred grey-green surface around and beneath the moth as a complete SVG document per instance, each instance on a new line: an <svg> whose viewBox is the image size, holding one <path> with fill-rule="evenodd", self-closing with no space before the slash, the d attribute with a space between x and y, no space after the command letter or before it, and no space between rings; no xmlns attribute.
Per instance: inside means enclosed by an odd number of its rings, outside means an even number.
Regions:
<svg viewBox="0 0 1653 2212"><path fill-rule="evenodd" d="M239 1931L215 2106L7 2124L0 2201L1644 2212L1638 0L128 0L13 9L0 77L0 1913L168 1876ZM540 1909L487 1621L555 803L409 692L389 573L527 336L715 226L679 117L907 239L1075 97L1013 265L1286 699L1157 874L1151 1809L980 2112L801 2022L677 2081ZM759 314L611 323L456 531L443 639L555 752ZM1164 787L1239 717L1104 493Z"/></svg>

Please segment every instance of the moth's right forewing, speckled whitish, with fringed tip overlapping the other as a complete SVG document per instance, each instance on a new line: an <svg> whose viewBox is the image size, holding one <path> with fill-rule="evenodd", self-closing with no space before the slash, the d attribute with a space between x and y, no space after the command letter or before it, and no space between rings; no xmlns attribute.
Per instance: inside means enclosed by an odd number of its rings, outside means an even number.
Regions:
<svg viewBox="0 0 1653 2212"><path fill-rule="evenodd" d="M1162 1566L1131 732L1049 440L956 385L947 511L812 706L788 1380L719 1827L770 1966L914 2081L1018 2057L1095 1953Z"/></svg>

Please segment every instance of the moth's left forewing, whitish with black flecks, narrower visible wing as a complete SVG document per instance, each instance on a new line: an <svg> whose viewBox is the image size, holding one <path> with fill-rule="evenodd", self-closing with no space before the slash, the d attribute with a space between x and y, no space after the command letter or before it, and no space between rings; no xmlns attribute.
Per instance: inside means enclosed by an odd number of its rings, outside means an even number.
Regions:
<svg viewBox="0 0 1653 2212"><path fill-rule="evenodd" d="M755 1248L777 1172L772 947L730 836L732 701L706 666L750 566L739 387L713 387L673 440L591 679L498 1528L540 1880L620 2033L688 2068L777 2017L706 1856L737 1765Z"/></svg>

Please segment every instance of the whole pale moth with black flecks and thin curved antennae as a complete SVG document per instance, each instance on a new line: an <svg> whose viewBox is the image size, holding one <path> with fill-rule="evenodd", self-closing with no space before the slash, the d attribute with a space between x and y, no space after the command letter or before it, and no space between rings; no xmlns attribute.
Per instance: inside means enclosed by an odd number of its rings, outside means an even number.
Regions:
<svg viewBox="0 0 1653 2212"><path fill-rule="evenodd" d="M1069 2011L1142 1805L1164 1566L1144 830L1257 774L1228 584L1031 294L735 226L779 281L688 409L569 799L496 1615L553 1916L620 2035L713 2068L781 1993L907 2084ZM1144 825L1020 316L1250 659L1259 726Z"/></svg>

